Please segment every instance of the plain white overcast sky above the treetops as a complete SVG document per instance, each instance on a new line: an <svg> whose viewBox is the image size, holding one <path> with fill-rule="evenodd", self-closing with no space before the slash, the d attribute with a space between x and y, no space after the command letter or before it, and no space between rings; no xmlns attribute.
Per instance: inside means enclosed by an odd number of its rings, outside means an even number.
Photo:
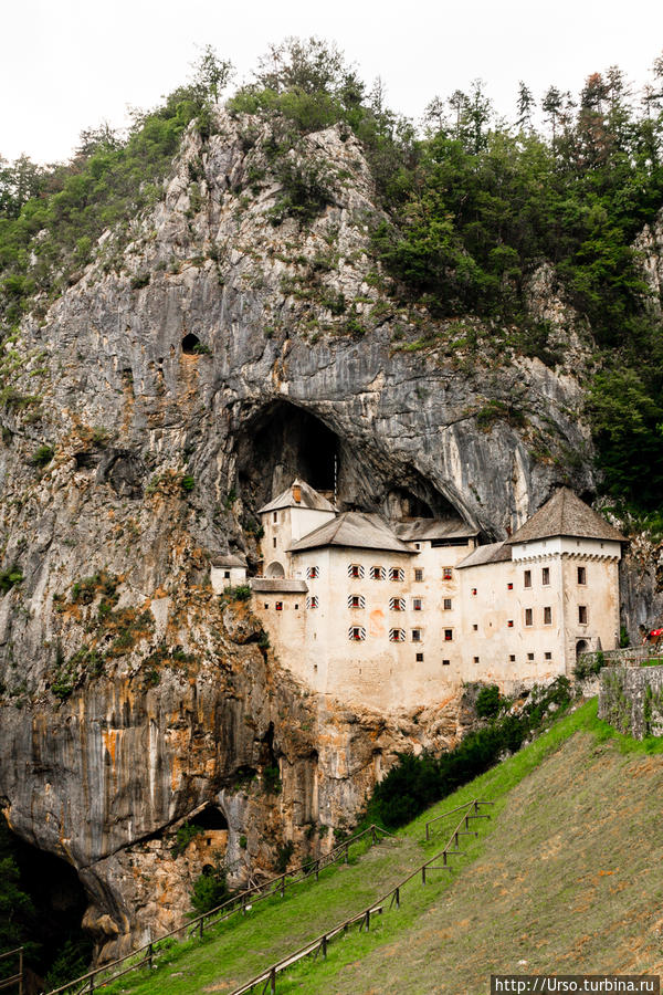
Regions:
<svg viewBox="0 0 663 995"><path fill-rule="evenodd" d="M518 80L537 97L578 92L619 64L638 84L663 49L661 0L2 0L0 156L69 158L83 128L126 124L185 83L196 45L248 76L270 42L334 40L360 75L380 75L393 109L480 76L514 116Z"/></svg>

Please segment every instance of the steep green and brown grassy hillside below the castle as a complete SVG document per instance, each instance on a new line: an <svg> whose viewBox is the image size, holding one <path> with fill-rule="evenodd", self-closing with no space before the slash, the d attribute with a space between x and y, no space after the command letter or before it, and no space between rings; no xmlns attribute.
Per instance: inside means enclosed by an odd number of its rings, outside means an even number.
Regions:
<svg viewBox="0 0 663 995"><path fill-rule="evenodd" d="M106 991L232 991L432 856L448 830L424 844L425 820L472 797L496 805L480 839L464 844L462 871L451 881L439 872L425 888L411 882L400 911L376 919L369 935L333 943L326 964L281 975L280 993L483 993L495 971L656 970L662 751L614 734L590 702L411 823L399 847L326 871L202 943L172 946L151 974Z"/></svg>

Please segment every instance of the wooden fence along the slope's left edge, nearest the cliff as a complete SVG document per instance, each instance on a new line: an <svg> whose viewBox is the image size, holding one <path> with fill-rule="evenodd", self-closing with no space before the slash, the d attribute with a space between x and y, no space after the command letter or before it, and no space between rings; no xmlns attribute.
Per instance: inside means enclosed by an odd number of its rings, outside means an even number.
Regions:
<svg viewBox="0 0 663 995"><path fill-rule="evenodd" d="M172 936L177 936L179 933L188 933L189 936L198 934L202 938L206 928L209 929L212 925L224 922L227 919L230 919L231 915L234 915L238 912L242 912L243 914L245 914L257 902L264 901L269 898L273 898L275 894L280 894L283 898L285 896L286 888L291 888L293 884L299 884L302 883L302 881L306 881L308 878L312 878L314 876L317 881L320 871L326 867L330 867L339 860L343 860L345 863L348 862L350 856L350 847L354 844L358 842L365 837L368 838L370 836L370 846L375 846L380 841L380 835L382 838L389 837L390 839L398 840L398 837L393 836L391 832L388 832L386 829L382 829L380 826L369 826L368 829L364 829L361 832L356 834L356 836L351 836L349 839L346 839L343 842L338 844L338 846L334 847L333 850L329 850L329 852L325 853L323 857L316 857L306 860L290 873L286 871L285 873L278 874L275 878L270 878L269 881L264 881L262 884L254 884L251 888L246 888L244 891L239 892L222 904L217 905L214 909L210 909L208 912L203 912L201 915L197 915L194 919L190 919L181 926L177 926L177 929L170 930L170 932L168 933L164 933L164 935L159 936L157 940L151 940L149 943L145 943L137 950L131 951L131 953L125 954L123 957L118 957L117 960L112 961L109 964L104 964L101 967L95 967L93 971L88 971L87 974L82 974L81 977L76 977L74 978L74 981L67 982L67 984L61 985L59 988L53 988L48 993L48 995L60 995L60 993L62 992L70 992L72 989L72 995L81 995L81 993L83 992L90 993L90 995L92 995L92 993L95 991L95 986L97 986L97 982L99 983L99 985L107 985L110 984L110 982L116 981L118 977L128 974L130 971L138 971L138 968L145 966L151 967L155 956L155 949L165 940L170 940ZM113 972L116 967L118 967L120 964L125 964L127 961L133 961L134 957L138 957L139 960L135 961L131 964L128 964L122 971L108 975L108 972Z"/></svg>

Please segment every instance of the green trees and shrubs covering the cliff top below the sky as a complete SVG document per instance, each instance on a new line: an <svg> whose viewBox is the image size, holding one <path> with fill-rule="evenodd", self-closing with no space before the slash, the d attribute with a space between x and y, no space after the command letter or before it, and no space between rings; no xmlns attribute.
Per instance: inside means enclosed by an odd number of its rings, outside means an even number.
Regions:
<svg viewBox="0 0 663 995"><path fill-rule="evenodd" d="M4 334L75 282L104 230L126 229L162 195L190 122L203 139L213 132L230 74L208 48L193 81L161 107L135 113L125 138L104 126L82 135L66 165L0 163ZM291 216L307 224L329 202L320 164L290 155L302 136L330 125L354 133L376 180L372 244L391 276L388 292L433 316L478 314L497 341L513 342L516 329L524 354L554 366L559 343L528 308L533 276L551 265L555 292L597 344L587 413L606 490L640 510L660 507L661 310L634 242L663 203L663 59L640 94L617 66L588 76L577 98L550 86L537 105L522 84L512 123L496 119L477 81L467 93L434 97L418 129L334 45L290 39L270 49L228 108L278 125L273 223Z"/></svg>

